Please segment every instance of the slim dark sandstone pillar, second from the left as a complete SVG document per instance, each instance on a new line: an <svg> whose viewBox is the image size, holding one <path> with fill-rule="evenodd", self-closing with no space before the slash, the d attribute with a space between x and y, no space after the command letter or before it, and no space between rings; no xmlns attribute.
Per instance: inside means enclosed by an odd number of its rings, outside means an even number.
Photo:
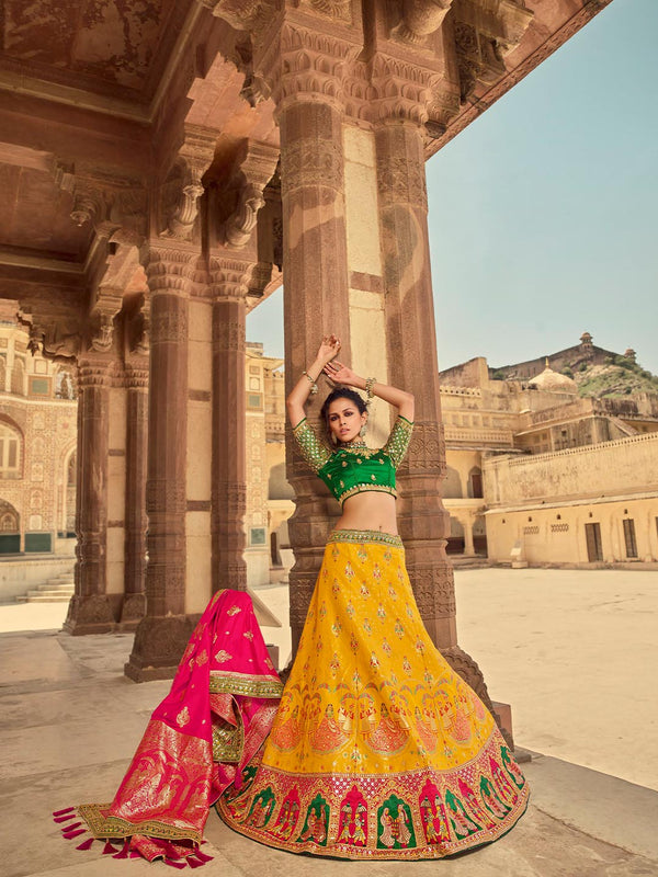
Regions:
<svg viewBox="0 0 658 877"><path fill-rule="evenodd" d="M146 614L146 468L148 452L148 363L126 365L125 592L121 622L136 626Z"/></svg>

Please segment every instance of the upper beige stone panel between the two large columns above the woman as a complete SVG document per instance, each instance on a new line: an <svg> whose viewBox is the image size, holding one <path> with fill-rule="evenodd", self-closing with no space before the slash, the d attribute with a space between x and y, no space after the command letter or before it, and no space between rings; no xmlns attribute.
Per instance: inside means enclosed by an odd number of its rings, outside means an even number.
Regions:
<svg viewBox="0 0 658 877"><path fill-rule="evenodd" d="M382 275L377 173L372 132L343 126L345 220L350 271Z"/></svg>

